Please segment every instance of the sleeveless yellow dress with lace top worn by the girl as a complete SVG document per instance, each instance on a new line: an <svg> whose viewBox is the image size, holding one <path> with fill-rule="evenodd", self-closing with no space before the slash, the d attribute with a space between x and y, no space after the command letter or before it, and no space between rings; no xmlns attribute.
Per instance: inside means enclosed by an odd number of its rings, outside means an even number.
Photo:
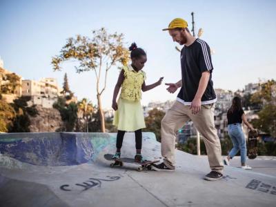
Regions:
<svg viewBox="0 0 276 207"><path fill-rule="evenodd" d="M118 110L115 110L113 125L118 130L135 131L146 128L144 112L141 106L141 86L146 79L142 70L136 72L132 66L126 66L124 82L118 99Z"/></svg>

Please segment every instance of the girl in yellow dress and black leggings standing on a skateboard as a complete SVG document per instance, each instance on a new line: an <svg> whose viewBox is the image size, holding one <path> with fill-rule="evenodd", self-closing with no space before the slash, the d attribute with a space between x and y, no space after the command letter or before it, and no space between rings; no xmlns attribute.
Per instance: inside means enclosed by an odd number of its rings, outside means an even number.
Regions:
<svg viewBox="0 0 276 207"><path fill-rule="evenodd" d="M113 155L113 159L119 159L121 156L121 146L123 144L124 134L126 131L135 132L136 155L135 161L143 162L141 155L142 147L142 128L146 128L144 120L144 112L141 107L141 90L143 92L151 90L159 85L163 77L159 81L146 86L146 73L141 70L147 61L146 52L137 48L136 43L132 43L129 50L131 64L121 70L118 81L116 83L112 108L115 110L113 125L117 126L117 151ZM117 102L117 95L121 88L121 94Z"/></svg>

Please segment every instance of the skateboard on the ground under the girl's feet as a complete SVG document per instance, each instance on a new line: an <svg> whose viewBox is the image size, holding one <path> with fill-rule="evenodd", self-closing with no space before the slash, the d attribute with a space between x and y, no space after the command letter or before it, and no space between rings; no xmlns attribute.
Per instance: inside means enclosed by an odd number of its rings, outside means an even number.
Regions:
<svg viewBox="0 0 276 207"><path fill-rule="evenodd" d="M130 164L139 165L139 167L137 168L138 171L151 170L152 164L159 162L159 160L154 160L154 161L146 160L144 162L137 162L137 161L135 161L135 159L129 158L129 157L120 157L119 159L112 159L113 155L111 155L111 154L106 154L103 157L108 161L114 161L110 164L110 167L124 166L124 163L130 163Z"/></svg>

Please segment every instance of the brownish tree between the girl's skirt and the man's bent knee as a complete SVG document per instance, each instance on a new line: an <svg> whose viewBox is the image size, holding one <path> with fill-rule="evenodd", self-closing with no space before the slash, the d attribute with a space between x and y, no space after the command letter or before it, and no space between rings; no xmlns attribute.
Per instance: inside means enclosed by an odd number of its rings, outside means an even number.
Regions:
<svg viewBox="0 0 276 207"><path fill-rule="evenodd" d="M157 141L161 141L161 121L165 116L165 112L158 110L157 108L153 108L148 112L148 117L146 117L146 129L143 131L154 132Z"/></svg>

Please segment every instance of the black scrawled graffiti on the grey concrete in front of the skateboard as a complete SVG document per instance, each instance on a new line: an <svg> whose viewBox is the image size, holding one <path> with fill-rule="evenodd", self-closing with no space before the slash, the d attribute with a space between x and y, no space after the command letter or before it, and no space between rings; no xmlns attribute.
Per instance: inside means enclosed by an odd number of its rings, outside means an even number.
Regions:
<svg viewBox="0 0 276 207"><path fill-rule="evenodd" d="M81 184L75 184L75 186L80 186L83 190L88 190L90 188L93 188L95 186L101 188L101 181L115 181L115 180L118 180L120 179L121 177L119 176L107 176L108 179L100 179L100 178L89 178L88 180L84 181L83 183ZM61 190L64 190L64 191L71 191L72 190L72 187L70 187L70 185L68 184L65 184L65 185L62 185L59 187Z"/></svg>

